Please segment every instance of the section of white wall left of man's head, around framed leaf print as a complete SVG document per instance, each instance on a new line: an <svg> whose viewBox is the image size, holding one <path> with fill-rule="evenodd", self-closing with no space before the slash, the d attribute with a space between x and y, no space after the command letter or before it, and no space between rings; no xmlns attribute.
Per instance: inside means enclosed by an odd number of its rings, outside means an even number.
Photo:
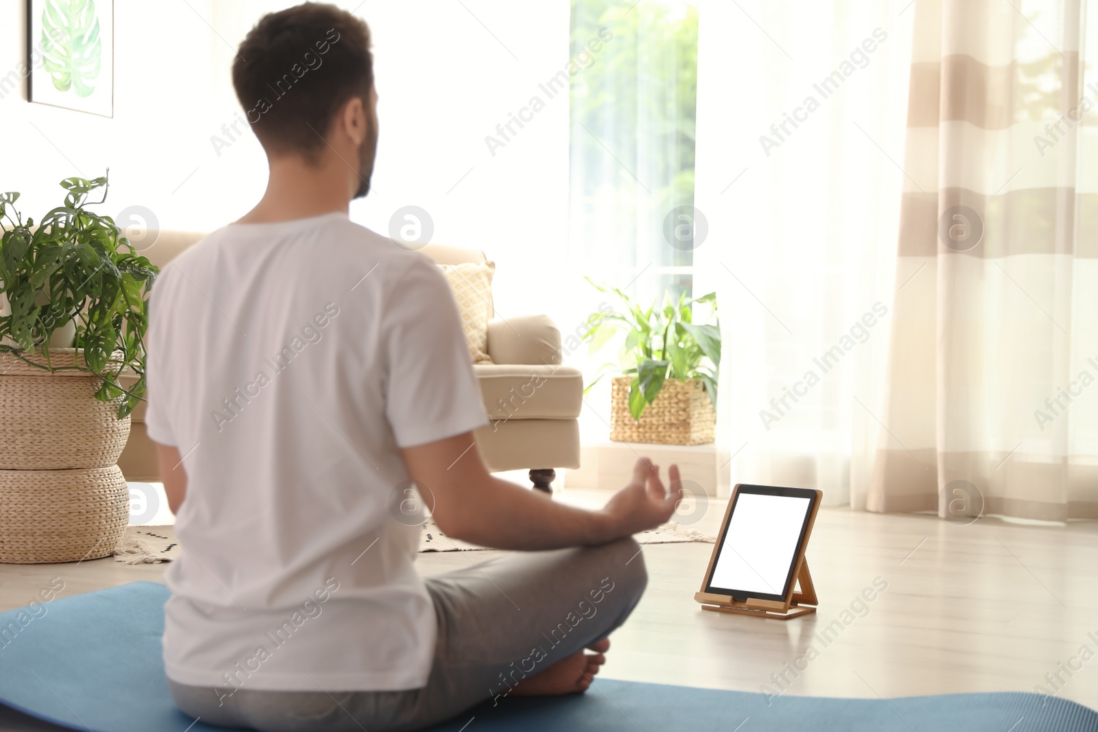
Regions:
<svg viewBox="0 0 1098 732"><path fill-rule="evenodd" d="M209 30L186 3L114 5L114 117L30 104L21 83L0 100L0 189L20 191L24 215L38 217L61 202L59 180L110 167L104 213L144 205L166 227L204 225L204 212L172 191L202 147L193 133L206 124ZM0 0L0 78L25 58L26 2Z"/></svg>

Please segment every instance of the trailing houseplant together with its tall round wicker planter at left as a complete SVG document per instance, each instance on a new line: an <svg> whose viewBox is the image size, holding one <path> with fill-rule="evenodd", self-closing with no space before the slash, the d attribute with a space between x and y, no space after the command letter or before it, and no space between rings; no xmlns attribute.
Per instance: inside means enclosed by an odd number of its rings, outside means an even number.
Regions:
<svg viewBox="0 0 1098 732"><path fill-rule="evenodd" d="M117 460L145 393L157 269L88 209L105 177L60 184L64 204L37 222L0 194L0 562L107 556L130 518Z"/></svg>

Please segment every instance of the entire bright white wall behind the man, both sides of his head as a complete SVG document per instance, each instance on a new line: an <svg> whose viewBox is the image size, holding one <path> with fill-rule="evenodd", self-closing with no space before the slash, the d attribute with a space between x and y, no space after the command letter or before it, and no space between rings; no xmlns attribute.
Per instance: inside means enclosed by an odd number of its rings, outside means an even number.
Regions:
<svg viewBox="0 0 1098 732"><path fill-rule="evenodd" d="M220 150L211 137L238 114L236 45L264 12L290 4L114 0L114 119L30 104L25 85L9 93L0 190L21 191L24 213L37 216L59 202L61 178L110 166L105 213L141 205L161 227L191 230L235 219L262 193L266 160L250 133ZM536 5L366 0L357 11L374 37L381 138L374 190L351 216L384 233L401 206L425 209L435 241L479 246L496 260L504 317L551 314L564 267L567 94L494 157L484 143L531 95L545 98L538 83L568 61L568 2ZM0 0L0 77L26 57L25 8Z"/></svg>

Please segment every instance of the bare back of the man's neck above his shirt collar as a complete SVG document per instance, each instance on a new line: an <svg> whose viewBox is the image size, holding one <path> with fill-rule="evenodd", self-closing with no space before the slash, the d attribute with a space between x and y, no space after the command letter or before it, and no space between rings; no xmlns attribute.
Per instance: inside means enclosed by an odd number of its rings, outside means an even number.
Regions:
<svg viewBox="0 0 1098 732"><path fill-rule="evenodd" d="M299 156L270 158L267 191L238 224L273 224L333 212L347 213L347 168L330 156L312 166Z"/></svg>

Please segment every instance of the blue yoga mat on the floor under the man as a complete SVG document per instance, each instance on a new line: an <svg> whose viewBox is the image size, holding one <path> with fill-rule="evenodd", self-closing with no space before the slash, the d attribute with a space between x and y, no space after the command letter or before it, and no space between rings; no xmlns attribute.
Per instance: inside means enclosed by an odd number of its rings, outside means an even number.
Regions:
<svg viewBox="0 0 1098 732"><path fill-rule="evenodd" d="M160 660L164 585L137 582L0 613L0 702L91 732L208 732L176 709ZM43 611L42 608L45 608ZM22 615L21 615L22 613ZM35 617L37 616L37 617ZM14 630L12 627L14 626ZM1035 694L780 697L600 679L583 696L485 703L437 732L1084 732L1098 713Z"/></svg>

